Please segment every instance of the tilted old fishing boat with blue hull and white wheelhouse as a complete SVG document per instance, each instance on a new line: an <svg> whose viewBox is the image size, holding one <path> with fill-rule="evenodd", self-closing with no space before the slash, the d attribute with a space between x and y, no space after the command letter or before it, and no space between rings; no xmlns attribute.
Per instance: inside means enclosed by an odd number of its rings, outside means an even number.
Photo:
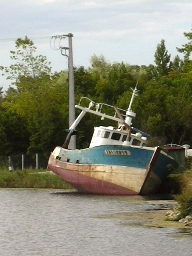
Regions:
<svg viewBox="0 0 192 256"><path fill-rule="evenodd" d="M148 134L132 127L136 114L131 106L137 95L135 86L127 110L83 97L76 108L81 113L71 125L62 147L57 146L49 158L49 168L79 192L138 195L156 192L177 162L161 147L148 147ZM89 102L88 107L82 105ZM103 112L113 108L114 115ZM71 136L85 113L117 122L113 126L94 127L89 148L70 150Z"/></svg>

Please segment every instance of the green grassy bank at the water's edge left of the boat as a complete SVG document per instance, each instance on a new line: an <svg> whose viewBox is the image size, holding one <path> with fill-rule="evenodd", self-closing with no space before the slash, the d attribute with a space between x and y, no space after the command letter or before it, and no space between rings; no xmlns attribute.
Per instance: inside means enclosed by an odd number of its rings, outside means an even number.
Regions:
<svg viewBox="0 0 192 256"><path fill-rule="evenodd" d="M48 171L48 170L46 170ZM0 187L2 188L72 188L59 176L41 170L24 170L9 172L5 168L0 169Z"/></svg>

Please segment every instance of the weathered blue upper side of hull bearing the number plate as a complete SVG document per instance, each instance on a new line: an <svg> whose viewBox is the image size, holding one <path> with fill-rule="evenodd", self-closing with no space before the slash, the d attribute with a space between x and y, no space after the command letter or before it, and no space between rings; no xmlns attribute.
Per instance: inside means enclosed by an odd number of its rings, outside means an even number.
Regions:
<svg viewBox="0 0 192 256"><path fill-rule="evenodd" d="M79 164L121 165L146 169L154 150L122 146L98 146L83 150L64 150L61 161Z"/></svg>

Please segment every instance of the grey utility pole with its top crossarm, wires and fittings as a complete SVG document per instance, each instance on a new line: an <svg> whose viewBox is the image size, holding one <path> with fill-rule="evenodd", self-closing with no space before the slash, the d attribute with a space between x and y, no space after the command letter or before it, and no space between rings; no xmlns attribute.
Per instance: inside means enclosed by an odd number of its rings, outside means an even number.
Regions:
<svg viewBox="0 0 192 256"><path fill-rule="evenodd" d="M61 46L61 40L68 37L68 47L62 47ZM73 34L64 34L64 35L54 35L52 38L60 39L59 41L59 47L55 47L54 42L54 48L53 50L61 50L61 54L63 56L68 57L68 68L69 68L69 127L73 124L75 121L75 87L74 87L74 71L73 71L73 49L72 49L72 37ZM69 51L69 55L67 55L66 50ZM65 51L65 52L64 52ZM69 143L69 149L75 150L76 149L76 138L75 135L71 137L70 143Z"/></svg>

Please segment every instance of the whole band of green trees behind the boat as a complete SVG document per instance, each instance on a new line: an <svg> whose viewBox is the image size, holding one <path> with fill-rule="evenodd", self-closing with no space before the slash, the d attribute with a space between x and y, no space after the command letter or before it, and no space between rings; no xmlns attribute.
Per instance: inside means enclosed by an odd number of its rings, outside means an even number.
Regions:
<svg viewBox="0 0 192 256"><path fill-rule="evenodd" d="M131 87L138 81L139 97L132 106L136 112L134 127L150 134L151 146L192 146L192 30L184 32L184 36L186 44L177 48L183 59L178 55L171 59L164 39L157 45L154 65L110 63L103 55L93 55L89 68L74 68L75 102L85 96L127 109ZM51 63L35 52L32 40L27 36L18 38L15 51L10 51L13 64L0 66L2 75L11 83L4 93L0 88L0 156L48 156L66 137L68 71L53 74ZM101 120L85 115L77 127L78 148L89 146L94 125L102 125Z"/></svg>

